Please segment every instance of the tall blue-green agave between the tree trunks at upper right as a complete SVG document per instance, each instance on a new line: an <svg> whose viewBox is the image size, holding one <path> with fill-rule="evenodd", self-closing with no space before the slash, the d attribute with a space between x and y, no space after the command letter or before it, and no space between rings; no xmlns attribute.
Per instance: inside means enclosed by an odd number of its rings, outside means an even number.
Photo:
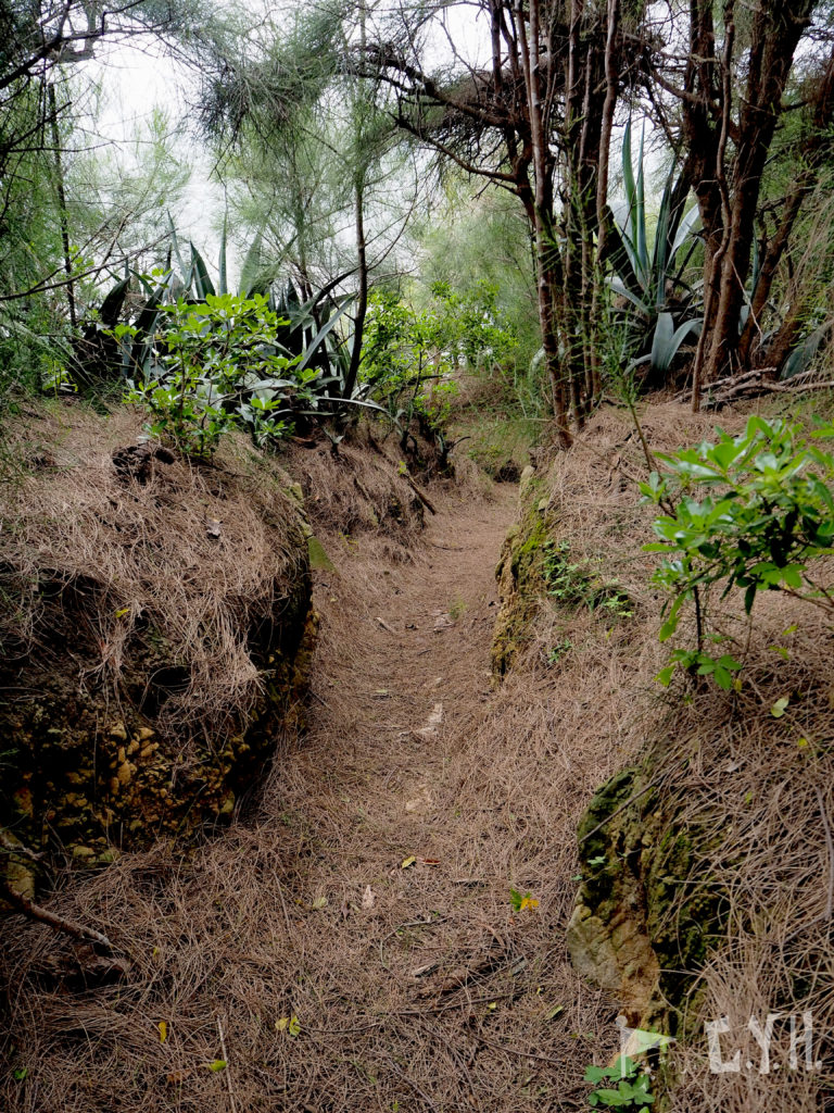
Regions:
<svg viewBox="0 0 834 1113"><path fill-rule="evenodd" d="M625 204L613 214L609 259L614 273L607 282L622 303L617 313L627 334L632 368L647 364L649 375L662 380L681 345L698 336L703 325L699 297L684 278L698 244L698 208L693 205L684 211L686 196L673 169L649 248L643 139L635 175L631 121L623 137L623 184Z"/></svg>

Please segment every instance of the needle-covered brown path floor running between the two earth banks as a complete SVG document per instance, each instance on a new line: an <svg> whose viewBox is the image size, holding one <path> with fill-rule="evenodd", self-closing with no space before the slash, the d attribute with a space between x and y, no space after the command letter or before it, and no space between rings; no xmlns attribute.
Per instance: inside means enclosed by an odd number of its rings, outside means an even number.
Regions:
<svg viewBox="0 0 834 1113"><path fill-rule="evenodd" d="M249 817L188 860L160 845L59 886L50 907L120 943L127 978L58 975L71 949L16 927L0 1106L585 1107L616 1009L564 951L574 829L620 758L602 721L573 746L598 677L573 681L567 720L533 676L490 682L516 489L436 490L399 560L321 535L336 570L317 574L309 731ZM538 906L514 910L510 887Z"/></svg>

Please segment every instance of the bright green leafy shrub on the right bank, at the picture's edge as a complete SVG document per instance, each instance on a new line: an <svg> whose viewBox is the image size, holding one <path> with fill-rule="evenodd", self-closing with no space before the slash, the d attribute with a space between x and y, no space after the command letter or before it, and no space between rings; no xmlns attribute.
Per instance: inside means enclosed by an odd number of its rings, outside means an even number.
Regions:
<svg viewBox="0 0 834 1113"><path fill-rule="evenodd" d="M709 630L715 590L734 589L753 610L761 591L784 591L834 615L834 594L812 567L834 553L834 455L817 443L834 437L827 425L805 435L795 424L752 416L743 434L718 431L715 443L658 455L664 474L641 484L645 500L665 511L654 522L664 554L653 582L672 598L664 608L661 640L678 629L686 604L695 612L696 646L676 649L658 679L668 683L681 666L733 686L741 663L717 658L705 642L725 640Z"/></svg>

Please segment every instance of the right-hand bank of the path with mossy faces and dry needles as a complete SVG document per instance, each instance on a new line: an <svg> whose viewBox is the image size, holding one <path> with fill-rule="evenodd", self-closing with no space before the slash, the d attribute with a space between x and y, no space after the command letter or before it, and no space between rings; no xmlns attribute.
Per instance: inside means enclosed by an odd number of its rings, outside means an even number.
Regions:
<svg viewBox="0 0 834 1113"><path fill-rule="evenodd" d="M645 431L654 451L669 452L712 425L657 406ZM609 662L613 682L588 700L575 733L582 750L603 731L615 759L578 825L580 884L565 930L576 969L614 995L628 1024L681 1041L667 1107L741 1111L767 1100L806 1110L834 1076L820 981L834 886L832 631L775 593L751 623L731 595L716 621L744 661L738 689L656 683L668 649L657 640L656 558L641 551L653 540L652 509L639 504L646 467L635 440L625 415L604 411L569 452L525 477L498 569L494 663L499 674L538 670L543 690L557 672L569 706L583 663ZM683 628L679 640L691 634ZM774 712L784 699L790 710ZM756 1073L748 1022L768 1012L814 1014L815 1075ZM704 1023L722 1016L727 1055L742 1048L755 1085L745 1071L718 1082L708 1071ZM781 1048L777 1038L774 1061L787 1067L790 1036Z"/></svg>

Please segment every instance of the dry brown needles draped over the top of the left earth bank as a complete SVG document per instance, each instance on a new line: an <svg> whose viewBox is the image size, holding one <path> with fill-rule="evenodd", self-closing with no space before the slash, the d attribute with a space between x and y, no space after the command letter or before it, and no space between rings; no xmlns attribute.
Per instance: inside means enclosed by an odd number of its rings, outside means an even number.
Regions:
<svg viewBox="0 0 834 1113"><path fill-rule="evenodd" d="M0 502L8 660L48 659L58 639L81 682L116 695L131 653L161 647L179 680L161 721L239 719L259 691L249 636L275 621L306 568L287 479L242 441L211 466L155 461L120 476L140 417L79 403L28 410L6 430Z"/></svg>

